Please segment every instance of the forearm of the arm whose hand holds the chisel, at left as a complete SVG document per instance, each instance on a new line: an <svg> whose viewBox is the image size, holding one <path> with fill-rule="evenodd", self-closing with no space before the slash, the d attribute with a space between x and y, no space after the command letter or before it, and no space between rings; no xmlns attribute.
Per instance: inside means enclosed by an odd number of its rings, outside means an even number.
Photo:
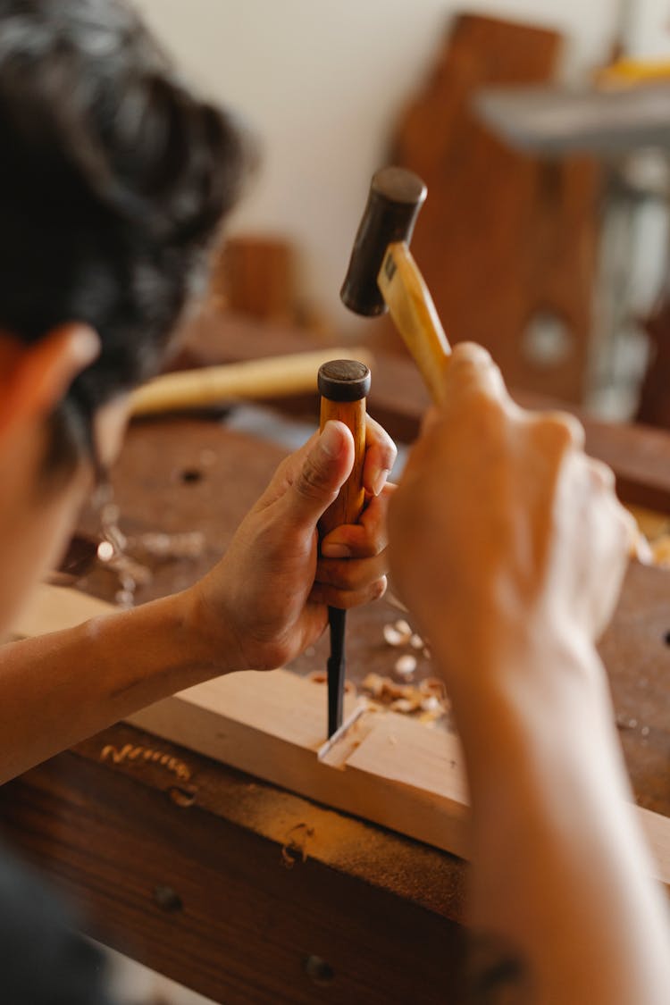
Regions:
<svg viewBox="0 0 670 1005"><path fill-rule="evenodd" d="M0 647L0 782L153 701L239 669L225 646L213 659L194 625L187 591Z"/></svg>

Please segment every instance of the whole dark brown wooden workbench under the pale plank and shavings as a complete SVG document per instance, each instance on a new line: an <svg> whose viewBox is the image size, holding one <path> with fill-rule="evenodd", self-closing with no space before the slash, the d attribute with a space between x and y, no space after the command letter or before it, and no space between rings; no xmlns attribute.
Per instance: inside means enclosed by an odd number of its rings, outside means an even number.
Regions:
<svg viewBox="0 0 670 1005"><path fill-rule="evenodd" d="M392 398L382 389L380 411ZM411 402L401 405L399 422L416 427L419 406L412 418ZM623 470L649 445L665 465L651 479L663 496L669 438L630 434L630 445L628 433L603 435L608 459L624 444ZM157 566L139 599L183 588L216 561L283 453L211 421L134 426L115 473L124 529L200 530L208 542L197 561ZM90 518L83 525L91 529ZM115 586L104 571L84 585L107 597ZM382 626L397 616L387 600L352 614L355 680L390 672ZM602 652L636 797L665 815L669 632L668 573L633 566ZM295 668L320 668L324 654L323 641ZM173 760L134 760L138 748ZM4 786L0 817L80 906L87 931L215 1001L461 1001L462 861L130 726Z"/></svg>

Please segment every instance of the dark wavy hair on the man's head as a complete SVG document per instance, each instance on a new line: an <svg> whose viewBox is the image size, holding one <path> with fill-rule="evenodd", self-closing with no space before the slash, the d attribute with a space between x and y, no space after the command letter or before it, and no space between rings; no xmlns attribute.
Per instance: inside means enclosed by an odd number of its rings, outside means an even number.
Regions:
<svg viewBox="0 0 670 1005"><path fill-rule="evenodd" d="M102 346L53 416L52 466L156 373L250 159L123 2L0 0L0 327L29 343L80 321Z"/></svg>

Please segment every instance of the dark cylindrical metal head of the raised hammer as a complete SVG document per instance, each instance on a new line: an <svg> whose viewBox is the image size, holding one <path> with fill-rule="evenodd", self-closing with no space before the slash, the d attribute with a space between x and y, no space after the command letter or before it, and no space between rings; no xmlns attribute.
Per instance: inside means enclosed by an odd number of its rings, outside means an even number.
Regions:
<svg viewBox="0 0 670 1005"><path fill-rule="evenodd" d="M393 241L410 243L425 201L426 186L413 171L382 168L373 176L368 205L340 293L350 311L369 317L384 314L386 304L377 276L386 249Z"/></svg>

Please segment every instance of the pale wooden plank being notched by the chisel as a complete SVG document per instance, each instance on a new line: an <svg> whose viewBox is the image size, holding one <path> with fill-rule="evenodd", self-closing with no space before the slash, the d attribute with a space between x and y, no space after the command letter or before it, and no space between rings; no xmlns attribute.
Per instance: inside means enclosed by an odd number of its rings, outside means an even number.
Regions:
<svg viewBox="0 0 670 1005"><path fill-rule="evenodd" d="M61 596L64 595L64 596ZM58 605L76 623L76 591L42 587L38 609L21 620L39 634L40 605ZM81 596L81 595L78 595ZM84 597L81 617L90 616ZM97 613L113 610L97 601ZM65 625L63 624L63 627ZM353 707L346 705L346 715ZM316 758L325 740L322 684L277 669L230 674L181 691L130 717L165 740L317 802L467 857L468 802L458 740L395 713L370 711L327 763ZM636 807L656 856L655 876L670 886L670 818Z"/></svg>

